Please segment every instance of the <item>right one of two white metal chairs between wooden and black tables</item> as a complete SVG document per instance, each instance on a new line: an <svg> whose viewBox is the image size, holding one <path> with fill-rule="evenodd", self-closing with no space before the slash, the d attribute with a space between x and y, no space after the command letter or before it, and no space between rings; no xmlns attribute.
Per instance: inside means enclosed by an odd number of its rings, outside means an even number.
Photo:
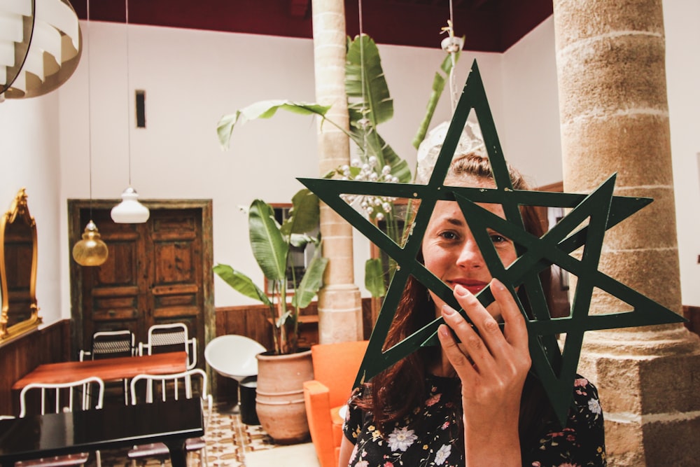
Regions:
<svg viewBox="0 0 700 467"><path fill-rule="evenodd" d="M197 379L199 379L199 384L197 385ZM172 375L137 375L132 378L131 382L131 398L132 404L137 404L138 396L137 394L142 394L142 398L145 403L153 403L155 397L157 397L157 388L160 388L160 399L165 400L179 400L184 397L186 399L191 399L193 397L192 384L188 382L193 381L195 387L199 387L200 398L202 398L202 405L204 406L204 435L206 436L207 427L209 426L209 419L211 417L212 410L212 398L211 394L207 392L207 374L200 370L199 368L194 368L192 370L187 370L181 373L174 373ZM154 388L156 388L154 390ZM141 391L139 393L139 390ZM207 441L202 438L189 438L185 442L185 449L188 456L193 452L200 452L200 465L208 466L207 463ZM148 459L148 458L160 458L161 467L165 466L165 460L169 458L169 451L165 444L161 442L151 443L149 445L139 445L134 446L133 449L127 453L127 456L132 461L132 466L137 465L138 459ZM189 463L189 461L188 461Z"/></svg>

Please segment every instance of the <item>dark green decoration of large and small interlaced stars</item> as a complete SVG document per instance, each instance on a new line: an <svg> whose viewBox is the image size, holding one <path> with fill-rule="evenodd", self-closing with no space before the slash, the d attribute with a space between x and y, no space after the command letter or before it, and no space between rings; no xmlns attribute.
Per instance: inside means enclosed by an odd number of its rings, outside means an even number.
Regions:
<svg viewBox="0 0 700 467"><path fill-rule="evenodd" d="M496 188L444 185L458 139L472 109L482 129ZM573 400L573 382L585 331L685 321L682 316L670 309L598 271L605 230L645 207L652 202L650 198L613 196L615 175L610 176L590 195L546 193L512 188L476 61L472 64L440 155L435 162L435 169L427 185L328 179L299 180L388 256L391 256L398 265L386 292L377 323L372 330L356 385L368 381L419 347L437 343L436 332L437 327L443 323L442 318L435 319L393 347L383 349L395 309L409 276L412 275L430 291L439 295L448 305L460 310L462 316L467 317L454 299L451 289L416 259L430 214L438 200L458 202L484 261L489 267L489 272L510 290L526 317L529 350L533 362L532 370L542 382L554 413L562 425L566 424L568 407ZM420 200L412 232L405 245L396 244L391 237L351 207L342 199L343 194ZM491 214L475 203L501 204L505 219ZM572 210L545 235L538 238L526 232L519 209L521 205L565 207ZM589 220L587 225L580 227L587 219ZM516 246L517 260L508 267L503 266L493 247L486 230L489 227L512 239ZM584 250L580 260L570 256L572 251L582 246ZM552 264L559 265L578 278L570 314L563 318L552 318L549 314L549 307L538 275ZM515 293L516 288L520 287L526 292L533 316L527 315ZM596 287L631 305L632 310L589 315L591 297ZM490 288L486 287L480 291L477 299L484 307L493 302ZM566 333L566 340L561 350L557 341L557 335L560 333Z"/></svg>

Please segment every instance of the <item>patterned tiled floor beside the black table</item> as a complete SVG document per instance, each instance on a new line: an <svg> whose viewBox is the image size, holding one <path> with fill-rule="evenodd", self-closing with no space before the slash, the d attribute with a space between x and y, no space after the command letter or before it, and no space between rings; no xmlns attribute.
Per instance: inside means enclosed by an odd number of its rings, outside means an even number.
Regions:
<svg viewBox="0 0 700 467"><path fill-rule="evenodd" d="M221 404L214 407L214 412L207 429L207 459L210 467L241 467L245 466L246 452L260 449L272 449L275 445L272 439L262 431L259 425L241 423L241 417L230 405ZM127 459L128 449L102 451L103 467L125 467L130 465ZM90 456L89 466L95 466L94 456ZM159 459L149 459L139 466L160 466ZM200 466L198 454L193 456L192 466ZM170 461L165 461L170 466Z"/></svg>

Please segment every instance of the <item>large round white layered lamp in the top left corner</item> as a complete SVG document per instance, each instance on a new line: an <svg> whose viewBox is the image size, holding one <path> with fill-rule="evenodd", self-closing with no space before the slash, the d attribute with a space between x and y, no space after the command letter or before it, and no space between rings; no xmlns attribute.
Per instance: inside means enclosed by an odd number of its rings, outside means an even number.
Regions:
<svg viewBox="0 0 700 467"><path fill-rule="evenodd" d="M36 97L55 90L78 67L78 15L68 0L0 4L0 95Z"/></svg>

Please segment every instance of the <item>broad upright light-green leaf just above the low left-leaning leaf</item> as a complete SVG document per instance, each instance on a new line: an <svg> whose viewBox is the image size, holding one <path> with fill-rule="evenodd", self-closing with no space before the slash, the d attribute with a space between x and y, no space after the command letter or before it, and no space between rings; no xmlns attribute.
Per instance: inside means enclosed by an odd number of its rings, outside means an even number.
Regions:
<svg viewBox="0 0 700 467"><path fill-rule="evenodd" d="M262 200L254 200L248 211L248 234L262 274L267 279L284 280L289 245L274 220L272 207Z"/></svg>

